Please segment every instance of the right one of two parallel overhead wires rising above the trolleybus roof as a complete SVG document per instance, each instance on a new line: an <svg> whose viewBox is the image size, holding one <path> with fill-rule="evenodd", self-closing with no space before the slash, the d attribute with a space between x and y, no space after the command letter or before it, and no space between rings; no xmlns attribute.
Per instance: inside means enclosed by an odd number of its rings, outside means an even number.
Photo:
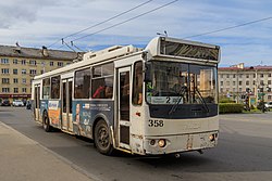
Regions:
<svg viewBox="0 0 272 181"><path fill-rule="evenodd" d="M143 13L143 14L139 14L139 15L137 15L137 16L134 16L134 17L128 18L128 20L126 20L126 21L123 21L123 22L121 22L121 23L114 24L114 25L109 26L109 27L107 27L107 28L103 28L103 29L101 29L101 30L95 31L95 33L92 33L92 34L88 34L88 35L85 35L85 36L83 36L83 37L76 38L76 39L74 39L74 40L72 40L72 41L77 41L77 40L79 40L79 39L83 39L83 38L86 38L86 37L90 37L90 36L94 36L94 35L96 35L96 34L102 33L102 31L104 31L104 30L111 29L111 28L116 27L116 26L119 26L119 25L123 25L123 24L125 24L125 23L127 23L127 22L131 22L131 21L133 21L133 20L135 20L135 18L138 18L138 17L140 17L140 16L144 16L144 15L149 14L149 13L151 13L151 12L154 12L154 11L157 11L157 10L160 10L160 9L162 9L162 8L164 8L164 7L168 7L168 5L170 5L170 4L172 4L172 3L176 2L176 1L178 1L178 0L171 1L171 2L169 2L169 3L165 3L165 4L161 5L161 7L158 7L158 8L156 8L156 9L150 10L150 11L147 11L147 12L145 12L145 13Z"/></svg>

